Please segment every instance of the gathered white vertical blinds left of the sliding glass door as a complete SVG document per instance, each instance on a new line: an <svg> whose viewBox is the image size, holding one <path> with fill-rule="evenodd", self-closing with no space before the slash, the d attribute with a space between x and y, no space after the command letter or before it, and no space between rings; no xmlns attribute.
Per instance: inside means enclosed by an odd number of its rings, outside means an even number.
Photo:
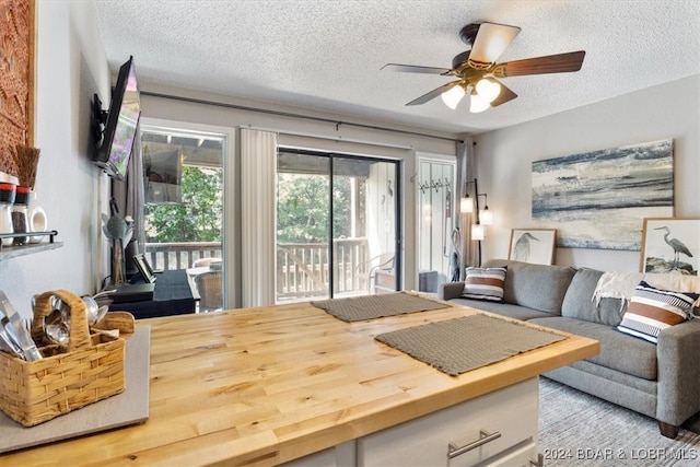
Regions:
<svg viewBox="0 0 700 467"><path fill-rule="evenodd" d="M275 304L277 133L241 130L242 305Z"/></svg>

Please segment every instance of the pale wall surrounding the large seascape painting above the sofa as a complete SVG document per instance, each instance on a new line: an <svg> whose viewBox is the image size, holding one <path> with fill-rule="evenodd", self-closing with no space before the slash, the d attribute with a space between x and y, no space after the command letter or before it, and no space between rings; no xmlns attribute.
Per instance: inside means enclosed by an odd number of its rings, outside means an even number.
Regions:
<svg viewBox="0 0 700 467"><path fill-rule="evenodd" d="M494 212L483 258L508 257L511 229L536 226L530 215L532 162L591 150L673 138L675 215L700 218L699 91L700 75L692 75L475 137L479 191L488 192ZM640 252L557 248L556 262L637 271L639 260Z"/></svg>

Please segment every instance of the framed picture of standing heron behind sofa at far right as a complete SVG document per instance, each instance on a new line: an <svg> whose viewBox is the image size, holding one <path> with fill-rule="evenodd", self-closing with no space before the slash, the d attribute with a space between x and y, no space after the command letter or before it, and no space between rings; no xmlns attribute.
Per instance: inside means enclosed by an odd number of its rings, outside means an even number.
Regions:
<svg viewBox="0 0 700 467"><path fill-rule="evenodd" d="M644 219L640 270L698 276L700 220Z"/></svg>

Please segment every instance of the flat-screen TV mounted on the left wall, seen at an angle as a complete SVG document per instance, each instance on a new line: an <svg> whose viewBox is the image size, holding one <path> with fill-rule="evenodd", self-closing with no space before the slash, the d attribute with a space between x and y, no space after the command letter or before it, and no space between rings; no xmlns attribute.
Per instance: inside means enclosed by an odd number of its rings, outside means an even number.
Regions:
<svg viewBox="0 0 700 467"><path fill-rule="evenodd" d="M93 102L95 144L92 160L110 177L122 180L126 176L140 116L141 101L133 57L130 57L119 68L109 110L102 109L97 94Z"/></svg>

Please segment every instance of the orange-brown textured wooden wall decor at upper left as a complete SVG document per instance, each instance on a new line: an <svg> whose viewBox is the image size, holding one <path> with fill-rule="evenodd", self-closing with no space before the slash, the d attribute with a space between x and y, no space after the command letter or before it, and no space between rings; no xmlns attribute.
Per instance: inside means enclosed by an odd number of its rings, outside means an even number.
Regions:
<svg viewBox="0 0 700 467"><path fill-rule="evenodd" d="M35 0L0 0L0 172L16 144L34 147Z"/></svg>

